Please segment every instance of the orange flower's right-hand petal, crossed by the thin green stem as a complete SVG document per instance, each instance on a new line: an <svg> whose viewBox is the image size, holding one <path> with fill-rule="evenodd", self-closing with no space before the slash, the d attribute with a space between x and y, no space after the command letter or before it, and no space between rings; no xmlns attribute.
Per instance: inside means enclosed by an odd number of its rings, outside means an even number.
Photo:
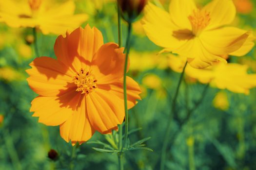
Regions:
<svg viewBox="0 0 256 170"><path fill-rule="evenodd" d="M126 86L127 86L127 104L128 109L135 106L137 103L136 100L141 100L139 94L141 90L136 81L134 81L131 77L126 76ZM108 90L110 93L114 93L123 101L123 78L118 81L110 84L110 85L98 85L98 88L102 88L104 90Z"/></svg>

